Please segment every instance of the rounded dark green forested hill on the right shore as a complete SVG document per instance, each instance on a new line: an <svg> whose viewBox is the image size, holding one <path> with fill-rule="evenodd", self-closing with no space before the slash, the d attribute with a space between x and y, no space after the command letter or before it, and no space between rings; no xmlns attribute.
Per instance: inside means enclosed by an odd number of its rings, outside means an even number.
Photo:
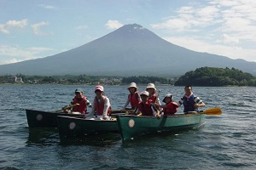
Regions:
<svg viewBox="0 0 256 170"><path fill-rule="evenodd" d="M256 77L235 68L201 67L186 72L174 83L175 86L256 86Z"/></svg>

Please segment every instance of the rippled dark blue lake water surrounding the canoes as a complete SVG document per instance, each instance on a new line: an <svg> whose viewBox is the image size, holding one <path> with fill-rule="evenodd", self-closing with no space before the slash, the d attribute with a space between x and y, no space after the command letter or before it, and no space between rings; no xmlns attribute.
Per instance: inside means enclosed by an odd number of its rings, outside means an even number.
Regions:
<svg viewBox="0 0 256 170"><path fill-rule="evenodd" d="M122 142L102 134L60 142L55 128L29 129L25 109L55 111L69 105L75 88L92 101L94 86L0 85L0 169L255 169L256 88L193 88L221 116L200 129ZM126 86L105 86L113 109L127 99ZM160 100L183 87L157 86ZM143 91L145 86L139 86ZM183 108L179 108L182 112Z"/></svg>

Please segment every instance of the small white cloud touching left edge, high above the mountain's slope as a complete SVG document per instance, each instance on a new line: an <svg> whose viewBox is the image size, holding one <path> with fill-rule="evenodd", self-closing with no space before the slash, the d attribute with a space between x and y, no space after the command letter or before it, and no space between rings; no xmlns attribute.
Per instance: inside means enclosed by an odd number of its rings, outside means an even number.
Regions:
<svg viewBox="0 0 256 170"><path fill-rule="evenodd" d="M11 28L24 28L27 26L28 21L25 20L8 20L5 24L0 25L0 31L4 34L9 34Z"/></svg>

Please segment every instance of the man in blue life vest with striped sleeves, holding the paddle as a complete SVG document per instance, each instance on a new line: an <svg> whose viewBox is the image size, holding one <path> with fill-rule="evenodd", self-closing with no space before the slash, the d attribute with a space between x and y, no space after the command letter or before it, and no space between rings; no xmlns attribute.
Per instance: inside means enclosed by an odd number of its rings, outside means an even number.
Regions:
<svg viewBox="0 0 256 170"><path fill-rule="evenodd" d="M205 106L204 102L192 92L191 86L186 86L184 88L184 91L185 91L185 94L178 101L179 106L180 105L184 106L184 110L183 110L184 113L198 112L199 107Z"/></svg>

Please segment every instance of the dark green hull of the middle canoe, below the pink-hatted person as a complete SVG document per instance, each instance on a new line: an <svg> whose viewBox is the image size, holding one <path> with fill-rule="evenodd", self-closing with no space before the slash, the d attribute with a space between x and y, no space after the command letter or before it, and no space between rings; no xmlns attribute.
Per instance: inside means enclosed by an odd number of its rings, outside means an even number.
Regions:
<svg viewBox="0 0 256 170"><path fill-rule="evenodd" d="M61 139L81 137L96 133L119 133L117 121L87 120L79 117L58 116Z"/></svg>

